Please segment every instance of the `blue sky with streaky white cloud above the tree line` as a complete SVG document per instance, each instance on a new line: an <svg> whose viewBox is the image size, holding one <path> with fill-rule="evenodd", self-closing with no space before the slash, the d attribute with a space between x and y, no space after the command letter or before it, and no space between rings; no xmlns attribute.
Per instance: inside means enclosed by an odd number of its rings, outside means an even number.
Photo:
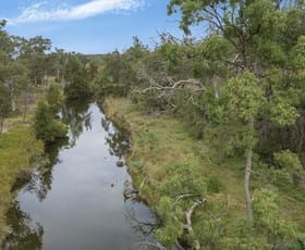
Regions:
<svg viewBox="0 0 305 250"><path fill-rule="evenodd" d="M158 33L176 37L179 16L167 15L169 0L1 0L7 32L50 38L53 48L85 54L123 51L133 36L154 46Z"/></svg>

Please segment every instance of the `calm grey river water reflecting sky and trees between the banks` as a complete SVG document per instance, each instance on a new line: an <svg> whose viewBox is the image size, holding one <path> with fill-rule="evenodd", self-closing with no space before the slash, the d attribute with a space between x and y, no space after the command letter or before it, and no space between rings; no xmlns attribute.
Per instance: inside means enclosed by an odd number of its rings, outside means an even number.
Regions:
<svg viewBox="0 0 305 250"><path fill-rule="evenodd" d="M63 121L69 139L49 147L49 166L19 191L4 249L149 249L156 217L118 166L129 137L95 103L66 105Z"/></svg>

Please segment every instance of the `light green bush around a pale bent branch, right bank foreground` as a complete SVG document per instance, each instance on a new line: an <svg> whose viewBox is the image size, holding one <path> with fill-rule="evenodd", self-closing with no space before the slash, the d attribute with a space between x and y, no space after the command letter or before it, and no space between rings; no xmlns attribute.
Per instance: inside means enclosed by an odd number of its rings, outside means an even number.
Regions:
<svg viewBox="0 0 305 250"><path fill-rule="evenodd" d="M171 247L183 234L186 223L184 211L190 209L196 199L206 196L207 184L193 160L169 165L166 174L168 177L159 187L162 197L157 208L163 228L158 229L156 235Z"/></svg>

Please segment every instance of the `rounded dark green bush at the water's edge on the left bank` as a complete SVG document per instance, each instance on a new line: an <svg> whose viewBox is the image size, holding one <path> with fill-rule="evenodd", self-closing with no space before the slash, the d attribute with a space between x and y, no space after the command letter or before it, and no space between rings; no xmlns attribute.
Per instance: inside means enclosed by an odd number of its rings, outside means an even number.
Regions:
<svg viewBox="0 0 305 250"><path fill-rule="evenodd" d="M34 117L35 134L45 143L54 141L56 138L65 137L68 126L56 121L53 114L45 102L39 102Z"/></svg>

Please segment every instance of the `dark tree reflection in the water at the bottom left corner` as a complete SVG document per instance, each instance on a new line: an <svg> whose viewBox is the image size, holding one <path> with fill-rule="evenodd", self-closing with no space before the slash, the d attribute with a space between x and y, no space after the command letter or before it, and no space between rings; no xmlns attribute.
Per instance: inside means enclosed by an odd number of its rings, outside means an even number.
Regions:
<svg viewBox="0 0 305 250"><path fill-rule="evenodd" d="M33 225L32 217L23 212L20 203L14 201L8 213L12 233L7 237L4 250L39 250L42 249L44 228L40 224Z"/></svg>

